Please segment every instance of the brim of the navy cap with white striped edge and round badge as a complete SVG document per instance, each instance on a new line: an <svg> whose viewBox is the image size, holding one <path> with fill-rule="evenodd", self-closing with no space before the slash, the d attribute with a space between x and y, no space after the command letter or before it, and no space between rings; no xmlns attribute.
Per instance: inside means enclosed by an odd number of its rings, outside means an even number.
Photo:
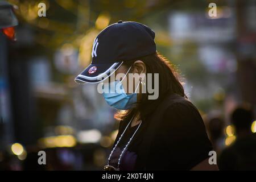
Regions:
<svg viewBox="0 0 256 182"><path fill-rule="evenodd" d="M117 70L123 62L90 64L83 72L75 78L78 84L96 84L106 80Z"/></svg>

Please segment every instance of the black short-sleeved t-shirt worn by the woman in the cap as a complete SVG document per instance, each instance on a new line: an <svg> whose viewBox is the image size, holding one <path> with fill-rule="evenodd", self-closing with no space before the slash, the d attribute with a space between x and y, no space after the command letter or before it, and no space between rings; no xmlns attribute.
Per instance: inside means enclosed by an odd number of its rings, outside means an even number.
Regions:
<svg viewBox="0 0 256 182"><path fill-rule="evenodd" d="M158 114L158 113L152 113ZM189 170L209 157L212 150L203 119L199 111L191 102L184 97L176 95L174 100L164 111L162 118L152 134L151 146L147 159L142 160L144 150L142 140L146 130L151 125L147 125L152 115L142 121L137 133L134 135L127 151L121 159L121 170ZM158 116L156 117L158 118ZM156 121L155 121L156 122ZM115 143L119 139L129 121L121 121L119 132ZM119 153L123 146L127 144L137 126L126 130L126 134L118 144L118 149L114 151L114 158L119 158ZM110 164L117 164L114 158ZM147 164L146 164L147 163ZM115 165L116 166L116 165Z"/></svg>

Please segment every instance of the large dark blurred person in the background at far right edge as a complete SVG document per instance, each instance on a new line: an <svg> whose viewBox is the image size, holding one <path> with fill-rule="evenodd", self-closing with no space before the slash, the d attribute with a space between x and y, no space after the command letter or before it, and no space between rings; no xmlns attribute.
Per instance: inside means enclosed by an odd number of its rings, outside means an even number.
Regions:
<svg viewBox="0 0 256 182"><path fill-rule="evenodd" d="M236 140L222 152L219 167L221 170L256 170L256 135L251 131L253 111L249 107L237 107L231 119Z"/></svg>

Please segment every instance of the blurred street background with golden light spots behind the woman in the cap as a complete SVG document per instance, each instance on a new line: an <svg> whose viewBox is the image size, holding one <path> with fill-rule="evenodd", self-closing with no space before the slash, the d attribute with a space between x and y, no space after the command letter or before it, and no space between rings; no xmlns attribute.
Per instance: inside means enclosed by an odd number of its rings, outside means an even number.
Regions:
<svg viewBox="0 0 256 182"><path fill-rule="evenodd" d="M96 35L118 20L156 32L157 50L179 69L217 155L237 139L232 111L247 105L255 114L256 1L6 2L14 5L19 24L16 42L0 32L2 170L102 169L117 135L115 110L97 85L74 79L90 64ZM46 17L38 16L40 2ZM210 17L212 2L217 16ZM46 151L46 165L38 165L40 150Z"/></svg>

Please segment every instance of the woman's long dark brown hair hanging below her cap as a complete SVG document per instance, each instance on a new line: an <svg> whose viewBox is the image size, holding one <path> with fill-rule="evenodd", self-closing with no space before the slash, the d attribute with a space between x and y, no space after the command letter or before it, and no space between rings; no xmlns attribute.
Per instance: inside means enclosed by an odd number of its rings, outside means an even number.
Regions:
<svg viewBox="0 0 256 182"><path fill-rule="evenodd" d="M163 100L166 94L176 93L182 97L187 98L184 93L183 86L179 81L177 69L174 67L174 65L170 63L168 59L166 59L166 57L156 52L148 56L125 61L123 65L129 68L133 65L134 61L137 60L143 61L143 63L146 65L147 73L152 73L152 75L154 75L154 73L159 74L159 97L156 100L148 100L148 95L150 94L148 92L142 93L141 99L136 107L126 110L124 112L118 111L118 113L115 114L115 119L130 119L137 111L139 111L141 119L145 119L148 114L152 113L152 111L155 110L156 106L161 100ZM131 69L133 69L133 67ZM152 78L154 78L154 76L152 76ZM152 81L152 85L154 87L154 80Z"/></svg>

